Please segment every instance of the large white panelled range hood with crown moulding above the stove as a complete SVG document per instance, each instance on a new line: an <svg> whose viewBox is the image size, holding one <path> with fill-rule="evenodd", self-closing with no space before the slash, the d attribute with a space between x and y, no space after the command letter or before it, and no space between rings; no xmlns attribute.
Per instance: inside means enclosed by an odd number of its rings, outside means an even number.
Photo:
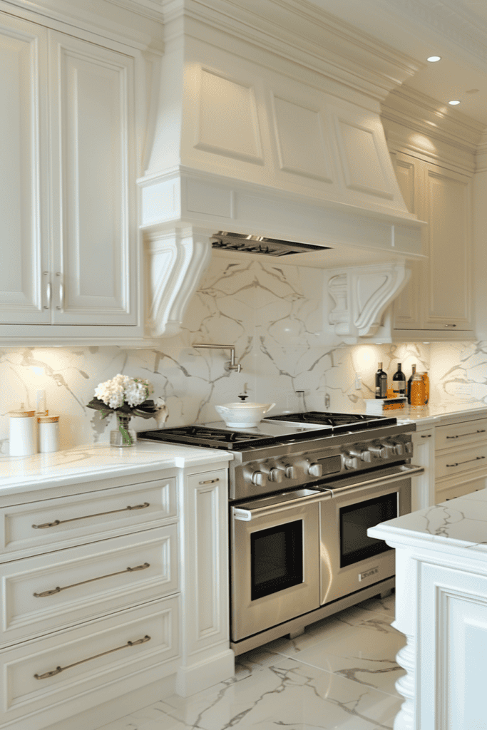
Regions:
<svg viewBox="0 0 487 730"><path fill-rule="evenodd" d="M177 331L212 250L394 272L421 258L380 123L409 58L294 0L163 7L138 180L156 334Z"/></svg>

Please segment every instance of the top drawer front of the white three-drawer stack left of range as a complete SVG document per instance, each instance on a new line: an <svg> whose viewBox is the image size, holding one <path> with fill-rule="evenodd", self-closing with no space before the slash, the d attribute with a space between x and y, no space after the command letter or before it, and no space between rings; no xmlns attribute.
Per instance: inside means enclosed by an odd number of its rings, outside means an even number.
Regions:
<svg viewBox="0 0 487 730"><path fill-rule="evenodd" d="M146 529L176 515L175 477L4 507L0 561Z"/></svg>

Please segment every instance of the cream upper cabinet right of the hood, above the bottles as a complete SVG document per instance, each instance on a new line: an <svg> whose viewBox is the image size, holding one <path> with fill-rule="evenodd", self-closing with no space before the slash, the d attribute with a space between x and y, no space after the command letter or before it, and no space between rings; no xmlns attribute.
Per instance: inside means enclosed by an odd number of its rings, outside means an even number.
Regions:
<svg viewBox="0 0 487 730"><path fill-rule="evenodd" d="M393 155L410 212L426 220L423 253L410 283L394 302L394 338L453 339L472 335L472 183L413 155ZM426 334L428 333L428 334Z"/></svg>

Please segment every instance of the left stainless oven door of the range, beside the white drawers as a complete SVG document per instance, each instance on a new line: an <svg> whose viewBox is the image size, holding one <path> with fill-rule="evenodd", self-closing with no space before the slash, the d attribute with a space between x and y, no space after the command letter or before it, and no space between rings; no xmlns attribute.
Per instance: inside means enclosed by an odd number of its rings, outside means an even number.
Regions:
<svg viewBox="0 0 487 730"><path fill-rule="evenodd" d="M330 499L299 489L230 508L232 641L319 607L319 506Z"/></svg>

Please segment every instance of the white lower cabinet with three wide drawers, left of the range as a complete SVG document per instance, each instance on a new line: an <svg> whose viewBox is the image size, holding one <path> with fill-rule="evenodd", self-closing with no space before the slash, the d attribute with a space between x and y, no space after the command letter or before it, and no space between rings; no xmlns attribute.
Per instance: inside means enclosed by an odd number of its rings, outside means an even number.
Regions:
<svg viewBox="0 0 487 730"><path fill-rule="evenodd" d="M0 501L1 729L86 729L85 710L115 720L147 685L188 695L234 674L228 470L210 466Z"/></svg>

